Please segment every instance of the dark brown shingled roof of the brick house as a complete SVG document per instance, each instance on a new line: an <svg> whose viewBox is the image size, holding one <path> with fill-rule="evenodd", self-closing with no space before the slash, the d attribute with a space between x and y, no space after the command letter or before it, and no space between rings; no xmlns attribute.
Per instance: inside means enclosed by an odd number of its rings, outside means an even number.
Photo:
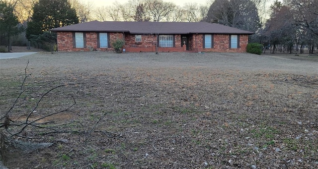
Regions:
<svg viewBox="0 0 318 169"><path fill-rule="evenodd" d="M253 32L207 22L113 22L91 21L59 28L51 31L89 32L129 32L131 34L247 34Z"/></svg>

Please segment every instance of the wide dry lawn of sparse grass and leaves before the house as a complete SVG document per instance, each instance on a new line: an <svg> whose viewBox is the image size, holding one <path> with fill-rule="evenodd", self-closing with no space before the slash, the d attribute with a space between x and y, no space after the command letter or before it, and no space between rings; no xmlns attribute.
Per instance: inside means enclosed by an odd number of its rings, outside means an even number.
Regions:
<svg viewBox="0 0 318 169"><path fill-rule="evenodd" d="M28 60L31 76L11 120L25 120L53 87L81 83L50 92L32 119L67 109L73 96L69 112L36 125L111 133L43 134L51 147L7 149L9 169L318 168L318 56L41 52L2 59L1 116L20 92Z"/></svg>

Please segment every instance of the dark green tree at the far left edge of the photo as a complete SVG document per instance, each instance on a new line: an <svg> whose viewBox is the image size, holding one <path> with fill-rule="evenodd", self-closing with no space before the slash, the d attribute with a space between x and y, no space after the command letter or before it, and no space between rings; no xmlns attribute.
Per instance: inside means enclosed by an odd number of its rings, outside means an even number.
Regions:
<svg viewBox="0 0 318 169"><path fill-rule="evenodd" d="M0 33L1 38L6 41L7 52L10 52L10 38L20 33L18 23L17 17L13 14L13 7L0 0Z"/></svg>

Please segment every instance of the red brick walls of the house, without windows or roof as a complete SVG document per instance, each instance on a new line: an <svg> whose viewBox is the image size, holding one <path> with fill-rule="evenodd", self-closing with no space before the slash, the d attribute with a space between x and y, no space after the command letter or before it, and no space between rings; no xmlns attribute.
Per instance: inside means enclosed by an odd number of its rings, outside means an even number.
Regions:
<svg viewBox="0 0 318 169"><path fill-rule="evenodd" d="M109 32L108 43L112 43L116 39L125 39L123 49L126 52L155 52L157 44L156 35L142 35L142 42L135 42L134 34L123 34L122 32ZM97 33L86 32L86 48L73 48L73 33L72 32L57 32L58 51L71 52L71 51L89 51L93 48L96 51L114 51L110 48L97 48ZM188 52L246 52L248 43L248 35L239 35L239 48L229 48L229 34L214 34L214 47L203 48L203 34L192 34L188 37ZM185 52L185 46L181 47L181 35L175 35L175 47L173 48L158 48L158 52Z"/></svg>

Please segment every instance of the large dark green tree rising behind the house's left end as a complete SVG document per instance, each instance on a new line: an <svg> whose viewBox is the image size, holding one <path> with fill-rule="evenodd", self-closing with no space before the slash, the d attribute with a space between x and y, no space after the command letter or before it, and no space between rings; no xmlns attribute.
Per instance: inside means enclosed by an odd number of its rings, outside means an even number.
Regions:
<svg viewBox="0 0 318 169"><path fill-rule="evenodd" d="M33 6L32 20L28 23L26 36L30 40L31 35L76 23L79 23L79 18L68 0L39 0Z"/></svg>

